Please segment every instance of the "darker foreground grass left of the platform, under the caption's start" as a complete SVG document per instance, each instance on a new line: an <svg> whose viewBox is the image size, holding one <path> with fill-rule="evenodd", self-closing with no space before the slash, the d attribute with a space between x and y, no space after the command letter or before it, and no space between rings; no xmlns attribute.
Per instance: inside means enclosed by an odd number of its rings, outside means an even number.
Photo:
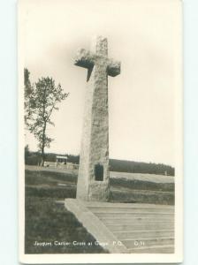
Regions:
<svg viewBox="0 0 198 265"><path fill-rule="evenodd" d="M35 241L48 246L34 246ZM73 241L82 242L83 246L73 246ZM63 245L65 242L70 245ZM63 204L34 196L27 196L26 201L25 246L26 254L105 253L101 246L95 246L95 239Z"/></svg>

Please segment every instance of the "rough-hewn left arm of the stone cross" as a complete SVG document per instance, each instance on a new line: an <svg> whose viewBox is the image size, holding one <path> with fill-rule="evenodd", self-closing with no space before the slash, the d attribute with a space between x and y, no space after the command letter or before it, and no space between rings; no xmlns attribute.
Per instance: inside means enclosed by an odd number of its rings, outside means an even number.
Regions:
<svg viewBox="0 0 198 265"><path fill-rule="evenodd" d="M94 57L88 50L79 49L74 58L74 64L88 69L92 68L94 66Z"/></svg>

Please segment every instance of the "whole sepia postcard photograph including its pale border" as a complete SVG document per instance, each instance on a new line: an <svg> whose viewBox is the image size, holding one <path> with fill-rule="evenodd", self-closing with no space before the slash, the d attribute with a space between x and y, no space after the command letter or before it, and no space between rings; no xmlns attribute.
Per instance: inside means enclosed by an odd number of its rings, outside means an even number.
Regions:
<svg viewBox="0 0 198 265"><path fill-rule="evenodd" d="M19 260L183 256L182 4L19 1Z"/></svg>

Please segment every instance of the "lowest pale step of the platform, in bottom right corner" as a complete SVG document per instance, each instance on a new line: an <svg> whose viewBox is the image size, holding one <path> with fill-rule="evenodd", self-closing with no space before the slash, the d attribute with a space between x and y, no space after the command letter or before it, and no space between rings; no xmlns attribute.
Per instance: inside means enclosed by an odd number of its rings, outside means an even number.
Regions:
<svg viewBox="0 0 198 265"><path fill-rule="evenodd" d="M173 254L174 245L168 246L146 246L129 249L132 254Z"/></svg>

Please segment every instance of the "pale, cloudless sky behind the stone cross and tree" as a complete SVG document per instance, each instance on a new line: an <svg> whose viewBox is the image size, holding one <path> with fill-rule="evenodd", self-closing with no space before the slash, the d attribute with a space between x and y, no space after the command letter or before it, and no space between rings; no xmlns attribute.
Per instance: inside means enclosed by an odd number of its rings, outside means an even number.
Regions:
<svg viewBox="0 0 198 265"><path fill-rule="evenodd" d="M77 49L95 34L121 61L109 82L110 158L174 166L179 85L180 9L176 0L21 1L20 45L32 82L50 76L70 93L52 114L46 152L80 154L87 71ZM22 87L23 88L23 87ZM34 136L25 132L30 150Z"/></svg>

